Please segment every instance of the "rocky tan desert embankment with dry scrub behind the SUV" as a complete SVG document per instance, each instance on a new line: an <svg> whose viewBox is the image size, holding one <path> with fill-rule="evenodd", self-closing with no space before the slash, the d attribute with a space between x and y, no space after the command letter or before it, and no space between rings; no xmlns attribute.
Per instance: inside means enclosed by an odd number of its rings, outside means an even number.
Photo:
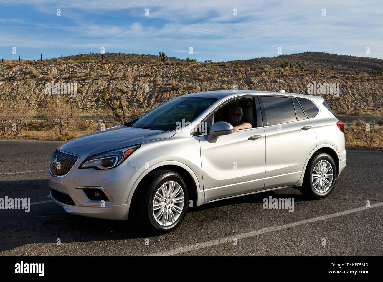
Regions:
<svg viewBox="0 0 383 282"><path fill-rule="evenodd" d="M282 62L282 61L280 61ZM172 64L155 62L58 62L0 65L0 106L26 101L36 110L50 101L67 99L70 94L46 94L47 83L77 83L77 96L70 103L83 114L109 113L98 95L103 88L111 97L129 90L124 96L128 112L145 112L171 98L210 90L267 90L306 93L308 84L339 83L339 97L321 94L338 115L382 115L383 79L378 75L355 72L326 72L298 68L270 69L234 64ZM121 89L121 90L119 90Z"/></svg>

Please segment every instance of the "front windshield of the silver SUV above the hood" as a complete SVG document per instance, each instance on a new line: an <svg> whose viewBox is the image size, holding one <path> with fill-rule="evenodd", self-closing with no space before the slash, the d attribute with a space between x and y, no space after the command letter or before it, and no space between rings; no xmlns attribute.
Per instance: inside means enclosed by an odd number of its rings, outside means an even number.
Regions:
<svg viewBox="0 0 383 282"><path fill-rule="evenodd" d="M154 130L175 130L197 118L207 107L218 99L202 97L175 98L154 108L139 120L133 123L132 127Z"/></svg>

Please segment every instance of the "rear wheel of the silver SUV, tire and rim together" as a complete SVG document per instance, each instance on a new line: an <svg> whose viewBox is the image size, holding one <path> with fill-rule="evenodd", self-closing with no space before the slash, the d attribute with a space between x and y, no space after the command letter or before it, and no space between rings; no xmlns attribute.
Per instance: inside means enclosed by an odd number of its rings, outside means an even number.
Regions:
<svg viewBox="0 0 383 282"><path fill-rule="evenodd" d="M336 178L334 159L329 154L320 152L306 167L303 186L299 190L308 198L323 199L334 189Z"/></svg>

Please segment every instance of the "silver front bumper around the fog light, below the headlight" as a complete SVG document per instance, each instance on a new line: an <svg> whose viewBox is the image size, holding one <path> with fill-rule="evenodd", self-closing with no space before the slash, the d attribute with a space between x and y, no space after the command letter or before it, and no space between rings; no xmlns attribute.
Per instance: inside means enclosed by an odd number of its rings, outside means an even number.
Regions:
<svg viewBox="0 0 383 282"><path fill-rule="evenodd" d="M66 212L76 215L111 220L128 219L128 197L140 173L127 161L118 167L103 171L93 168L79 169L81 162L82 160L76 162L63 177L57 177L48 172L48 184L51 189L69 195L74 205L61 202L50 193L53 202L63 207ZM83 189L76 187L104 187L113 198L113 202L90 200Z"/></svg>

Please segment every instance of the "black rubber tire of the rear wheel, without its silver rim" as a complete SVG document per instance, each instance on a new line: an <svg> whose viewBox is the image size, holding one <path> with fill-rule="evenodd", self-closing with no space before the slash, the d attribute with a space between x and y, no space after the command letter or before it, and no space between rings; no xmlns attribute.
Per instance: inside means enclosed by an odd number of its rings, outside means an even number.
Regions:
<svg viewBox="0 0 383 282"><path fill-rule="evenodd" d="M313 181L312 181L312 175L313 175L314 167L321 160L325 160L325 161L329 162L329 164L332 167L333 177L332 177L331 185L326 190L326 192L321 192L320 193L314 187L314 184L313 184ZM308 163L308 165L306 167L306 171L304 173L303 185L299 188L299 190L301 191L301 193L304 196L306 196L306 197L308 197L310 199L313 199L313 200L326 198L328 195L330 195L330 193L334 189L334 186L335 186L335 183L336 183L336 179L337 179L337 173L338 172L337 172L337 169L336 169L336 165L335 165L334 159L332 159L332 157L329 154L326 154L326 153L323 153L323 152L319 152Z"/></svg>

